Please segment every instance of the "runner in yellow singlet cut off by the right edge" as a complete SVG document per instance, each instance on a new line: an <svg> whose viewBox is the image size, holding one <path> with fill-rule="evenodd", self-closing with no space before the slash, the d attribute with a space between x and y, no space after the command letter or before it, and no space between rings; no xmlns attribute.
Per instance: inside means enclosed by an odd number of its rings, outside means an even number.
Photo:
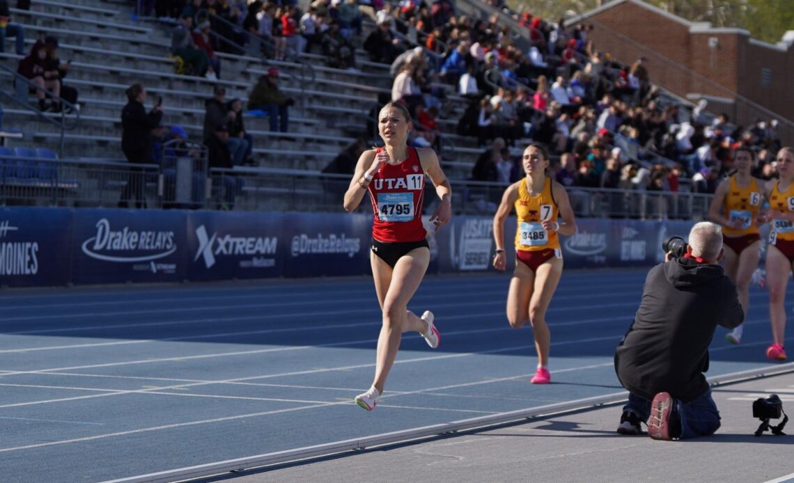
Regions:
<svg viewBox="0 0 794 483"><path fill-rule="evenodd" d="M772 322L772 344L766 357L784 360L783 347L786 329L786 311L783 306L788 286L788 275L794 262L794 151L785 147L777 152L777 172L780 179L767 182L769 212L772 223L769 247L766 249L766 286L769 288L769 320Z"/></svg>

